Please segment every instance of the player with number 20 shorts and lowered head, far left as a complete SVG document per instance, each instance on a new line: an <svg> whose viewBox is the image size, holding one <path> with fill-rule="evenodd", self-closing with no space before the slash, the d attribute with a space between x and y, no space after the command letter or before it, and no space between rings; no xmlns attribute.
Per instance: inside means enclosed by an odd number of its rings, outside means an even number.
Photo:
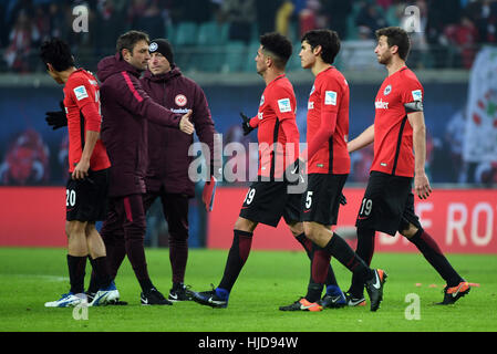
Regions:
<svg viewBox="0 0 497 354"><path fill-rule="evenodd" d="M65 232L71 290L45 306L65 308L87 301L83 289L89 254L100 288L91 305L105 304L117 300L118 291L107 273L105 246L95 229L95 221L103 220L106 214L107 169L111 166L100 139L99 84L91 73L75 67L69 45L59 39L45 41L40 55L49 75L64 85L70 171Z"/></svg>

